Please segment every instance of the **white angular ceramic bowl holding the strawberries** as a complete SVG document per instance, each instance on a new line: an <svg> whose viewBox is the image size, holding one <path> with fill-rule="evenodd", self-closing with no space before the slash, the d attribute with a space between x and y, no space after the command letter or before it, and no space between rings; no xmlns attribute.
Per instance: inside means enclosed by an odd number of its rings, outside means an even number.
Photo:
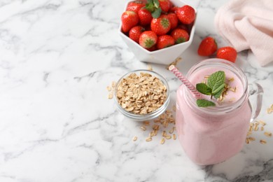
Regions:
<svg viewBox="0 0 273 182"><path fill-rule="evenodd" d="M128 3L125 6L125 10L126 10ZM172 0L172 3L174 4L174 6L179 6L179 7L186 5L186 3L184 3L183 1L180 1L180 0ZM195 9L195 13L197 15L196 9ZM195 22L196 22L196 18L195 18ZM195 33L195 22L193 23L193 27L190 31L190 38L188 41L186 41L184 43L172 45L169 48L163 48L161 50L155 50L155 51L148 51L145 48L142 48L141 45L132 41L131 38L129 38L127 35L125 35L121 31L121 25L122 25L121 21L120 21L119 33L120 33L120 36L123 38L123 41L125 41L127 46L134 53L134 55L137 57L137 59L139 59L139 61L153 62L153 63L157 63L157 64L166 64L167 65L167 64L174 62L174 60L177 57L179 57L182 54L182 52L184 50L186 50L190 46L190 44L192 43L193 35Z"/></svg>

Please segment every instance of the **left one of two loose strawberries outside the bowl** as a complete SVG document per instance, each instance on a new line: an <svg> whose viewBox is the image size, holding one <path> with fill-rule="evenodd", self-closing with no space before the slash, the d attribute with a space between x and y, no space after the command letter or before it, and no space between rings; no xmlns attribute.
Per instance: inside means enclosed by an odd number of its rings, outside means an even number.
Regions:
<svg viewBox="0 0 273 182"><path fill-rule="evenodd" d="M198 55L209 56L213 55L217 50L217 43L214 38L208 36L204 38L198 48Z"/></svg>

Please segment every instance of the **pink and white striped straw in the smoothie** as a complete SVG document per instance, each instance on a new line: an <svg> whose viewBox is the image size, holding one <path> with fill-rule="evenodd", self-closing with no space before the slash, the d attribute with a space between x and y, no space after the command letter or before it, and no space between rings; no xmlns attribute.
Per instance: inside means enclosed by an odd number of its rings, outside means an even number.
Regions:
<svg viewBox="0 0 273 182"><path fill-rule="evenodd" d="M179 80L181 80L181 82L184 85L186 85L186 87L188 87L188 89L191 92L193 92L193 94L195 95L195 98L197 99L202 98L202 94L196 90L195 86L192 83L190 83L190 81L185 76L183 76L183 74L178 69L176 69L176 66L174 65L169 66L169 70L172 71L174 75L177 78L179 78Z"/></svg>

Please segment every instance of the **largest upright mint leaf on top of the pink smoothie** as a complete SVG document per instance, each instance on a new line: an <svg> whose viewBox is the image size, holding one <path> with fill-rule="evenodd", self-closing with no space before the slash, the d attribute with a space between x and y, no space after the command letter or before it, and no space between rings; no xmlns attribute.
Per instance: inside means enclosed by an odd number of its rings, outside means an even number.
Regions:
<svg viewBox="0 0 273 182"><path fill-rule="evenodd" d="M212 93L216 93L218 87L221 87L223 83L225 83L224 71L216 71L215 73L212 73L211 76L209 76L208 78L208 86L211 88Z"/></svg>

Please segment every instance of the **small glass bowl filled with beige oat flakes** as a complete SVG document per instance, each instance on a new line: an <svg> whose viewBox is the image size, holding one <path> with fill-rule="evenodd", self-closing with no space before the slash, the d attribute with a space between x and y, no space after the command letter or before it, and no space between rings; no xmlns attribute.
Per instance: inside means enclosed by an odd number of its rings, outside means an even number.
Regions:
<svg viewBox="0 0 273 182"><path fill-rule="evenodd" d="M169 85L155 71L131 71L118 80L114 99L119 111L128 118L151 120L167 109Z"/></svg>

